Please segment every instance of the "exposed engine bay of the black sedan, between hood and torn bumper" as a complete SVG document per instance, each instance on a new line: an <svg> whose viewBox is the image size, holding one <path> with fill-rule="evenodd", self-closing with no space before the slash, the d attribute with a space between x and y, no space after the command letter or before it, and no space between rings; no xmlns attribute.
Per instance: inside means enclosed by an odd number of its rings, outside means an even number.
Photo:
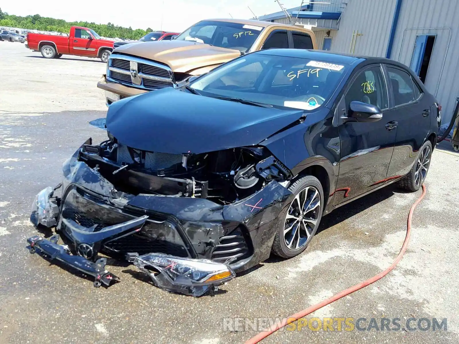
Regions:
<svg viewBox="0 0 459 344"><path fill-rule="evenodd" d="M196 197L227 205L270 180L291 178L291 172L263 147L168 154L137 150L108 136L100 145L83 145L79 160L129 194Z"/></svg>

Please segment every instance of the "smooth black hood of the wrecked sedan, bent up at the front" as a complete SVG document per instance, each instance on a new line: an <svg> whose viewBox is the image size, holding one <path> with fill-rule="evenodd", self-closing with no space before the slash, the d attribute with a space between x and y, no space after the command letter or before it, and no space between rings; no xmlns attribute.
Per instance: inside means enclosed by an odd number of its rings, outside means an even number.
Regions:
<svg viewBox="0 0 459 344"><path fill-rule="evenodd" d="M198 154L259 144L302 114L166 88L114 102L106 127L132 148Z"/></svg>

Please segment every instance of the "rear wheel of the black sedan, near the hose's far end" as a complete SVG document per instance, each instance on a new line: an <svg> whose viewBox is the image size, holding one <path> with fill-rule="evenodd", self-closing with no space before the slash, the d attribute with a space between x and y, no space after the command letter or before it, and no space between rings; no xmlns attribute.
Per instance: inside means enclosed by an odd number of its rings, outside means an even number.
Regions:
<svg viewBox="0 0 459 344"><path fill-rule="evenodd" d="M421 146L411 171L400 180L398 186L411 192L418 191L424 183L427 172L429 171L431 156L432 144L430 141L426 141Z"/></svg>

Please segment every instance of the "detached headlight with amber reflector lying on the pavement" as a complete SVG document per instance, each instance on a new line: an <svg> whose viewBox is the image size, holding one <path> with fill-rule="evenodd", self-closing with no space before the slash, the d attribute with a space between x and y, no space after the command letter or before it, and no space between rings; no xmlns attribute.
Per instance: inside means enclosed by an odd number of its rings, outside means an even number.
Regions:
<svg viewBox="0 0 459 344"><path fill-rule="evenodd" d="M150 276L157 287L196 297L216 291L219 285L236 276L222 263L162 253L140 255L135 258L134 265Z"/></svg>

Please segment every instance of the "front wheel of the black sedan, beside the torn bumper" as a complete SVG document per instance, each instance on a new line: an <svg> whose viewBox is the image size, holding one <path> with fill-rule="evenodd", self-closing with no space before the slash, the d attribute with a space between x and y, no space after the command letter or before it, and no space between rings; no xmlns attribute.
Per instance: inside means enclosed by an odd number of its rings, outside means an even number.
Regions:
<svg viewBox="0 0 459 344"><path fill-rule="evenodd" d="M271 251L291 258L306 250L322 218L324 190L314 176L299 178L288 188L295 195L285 216L278 220Z"/></svg>

